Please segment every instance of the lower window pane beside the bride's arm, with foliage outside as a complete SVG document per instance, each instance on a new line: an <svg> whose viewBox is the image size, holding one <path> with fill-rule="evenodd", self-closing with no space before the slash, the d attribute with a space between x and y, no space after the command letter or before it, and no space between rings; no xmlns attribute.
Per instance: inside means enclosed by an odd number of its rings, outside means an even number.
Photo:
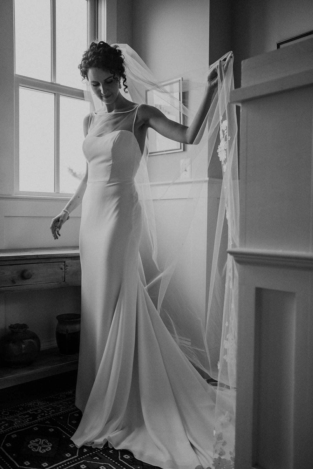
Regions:
<svg viewBox="0 0 313 469"><path fill-rule="evenodd" d="M90 103L60 96L60 192L74 193L86 171L83 119Z"/></svg>

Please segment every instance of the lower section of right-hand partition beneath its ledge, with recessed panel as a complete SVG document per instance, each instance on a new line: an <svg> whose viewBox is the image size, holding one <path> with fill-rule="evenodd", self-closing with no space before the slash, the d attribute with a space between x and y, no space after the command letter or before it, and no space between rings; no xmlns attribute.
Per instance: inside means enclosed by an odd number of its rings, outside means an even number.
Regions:
<svg viewBox="0 0 313 469"><path fill-rule="evenodd" d="M237 467L306 467L313 435L313 272L239 264L238 273Z"/></svg>

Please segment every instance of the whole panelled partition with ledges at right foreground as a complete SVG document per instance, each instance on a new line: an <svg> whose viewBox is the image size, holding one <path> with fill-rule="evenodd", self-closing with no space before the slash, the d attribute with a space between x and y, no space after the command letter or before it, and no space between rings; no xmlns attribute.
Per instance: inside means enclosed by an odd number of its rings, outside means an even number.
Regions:
<svg viewBox="0 0 313 469"><path fill-rule="evenodd" d="M313 39L242 62L235 469L313 467Z"/></svg>

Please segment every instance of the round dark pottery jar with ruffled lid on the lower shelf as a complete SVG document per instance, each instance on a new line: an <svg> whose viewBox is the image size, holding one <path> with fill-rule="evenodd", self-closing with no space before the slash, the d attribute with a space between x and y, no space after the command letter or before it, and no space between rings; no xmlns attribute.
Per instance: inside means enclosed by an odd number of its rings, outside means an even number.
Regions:
<svg viewBox="0 0 313 469"><path fill-rule="evenodd" d="M10 368L30 365L40 351L37 334L28 331L27 324L11 324L10 332L0 338L0 361Z"/></svg>

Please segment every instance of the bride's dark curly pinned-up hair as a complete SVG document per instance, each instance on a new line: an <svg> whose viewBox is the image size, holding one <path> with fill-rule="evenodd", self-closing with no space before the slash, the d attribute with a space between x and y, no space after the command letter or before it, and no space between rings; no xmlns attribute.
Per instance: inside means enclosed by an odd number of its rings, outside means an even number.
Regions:
<svg viewBox="0 0 313 469"><path fill-rule="evenodd" d="M109 70L111 73L114 73L115 80L122 77L124 91L128 93L124 56L117 45L109 45L104 41L92 42L89 48L84 52L83 58L78 65L83 79L88 80L88 70L92 67Z"/></svg>

